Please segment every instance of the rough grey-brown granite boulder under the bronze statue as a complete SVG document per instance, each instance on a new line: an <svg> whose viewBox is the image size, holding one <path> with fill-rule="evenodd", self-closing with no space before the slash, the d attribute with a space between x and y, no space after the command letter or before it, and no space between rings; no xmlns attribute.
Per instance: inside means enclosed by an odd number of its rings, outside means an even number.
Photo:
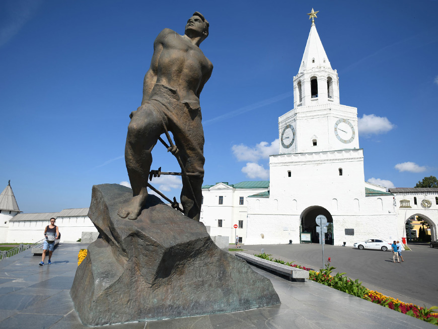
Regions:
<svg viewBox="0 0 438 329"><path fill-rule="evenodd" d="M93 186L99 231L71 287L85 325L157 320L279 304L271 282L218 248L205 226L150 195L135 221L117 210L132 198L118 184Z"/></svg>

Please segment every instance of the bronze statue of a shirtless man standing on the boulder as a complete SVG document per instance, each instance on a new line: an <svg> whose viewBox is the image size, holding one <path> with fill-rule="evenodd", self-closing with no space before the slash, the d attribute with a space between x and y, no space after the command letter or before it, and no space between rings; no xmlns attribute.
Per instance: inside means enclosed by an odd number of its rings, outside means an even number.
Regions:
<svg viewBox="0 0 438 329"><path fill-rule="evenodd" d="M130 114L125 161L133 197L118 211L135 220L148 198L152 149L171 131L183 172L181 204L184 215L199 221L204 177L204 132L199 95L213 65L199 49L208 36L208 22L198 12L187 21L184 35L170 29L154 42L151 67L144 76L141 106Z"/></svg>

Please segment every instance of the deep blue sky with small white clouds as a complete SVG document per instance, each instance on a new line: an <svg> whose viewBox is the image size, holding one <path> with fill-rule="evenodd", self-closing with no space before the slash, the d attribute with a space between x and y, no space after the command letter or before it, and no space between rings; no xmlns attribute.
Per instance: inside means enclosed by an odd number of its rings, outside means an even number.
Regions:
<svg viewBox="0 0 438 329"><path fill-rule="evenodd" d="M153 42L210 22L200 48L214 65L201 94L205 184L268 179L278 116L293 108L311 22L340 102L357 107L365 179L413 187L438 176L438 1L0 2L0 190L20 209L90 204L94 184L128 181L129 113L141 102ZM161 145L153 169L179 171ZM153 180L179 198L176 177Z"/></svg>

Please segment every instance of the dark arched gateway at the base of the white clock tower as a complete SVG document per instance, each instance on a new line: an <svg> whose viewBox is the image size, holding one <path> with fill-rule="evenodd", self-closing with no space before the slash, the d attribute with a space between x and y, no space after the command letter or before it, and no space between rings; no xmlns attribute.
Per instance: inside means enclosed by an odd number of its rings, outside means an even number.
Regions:
<svg viewBox="0 0 438 329"><path fill-rule="evenodd" d="M316 232L316 217L324 215L327 217L327 233L325 233L325 243L333 244L333 218L329 211L320 206L312 206L301 213L301 232L312 234L312 243L319 243L319 233Z"/></svg>

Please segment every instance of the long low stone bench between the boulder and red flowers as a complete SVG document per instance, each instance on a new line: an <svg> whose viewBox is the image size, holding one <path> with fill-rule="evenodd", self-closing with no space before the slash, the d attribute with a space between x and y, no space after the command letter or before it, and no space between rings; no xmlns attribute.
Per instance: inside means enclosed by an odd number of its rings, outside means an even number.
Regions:
<svg viewBox="0 0 438 329"><path fill-rule="evenodd" d="M309 271L293 268L287 265L279 264L275 261L263 259L250 255L244 252L236 252L236 257L246 260L249 264L266 269L271 272L278 273L287 277L290 281L305 282L304 279L309 279Z"/></svg>

